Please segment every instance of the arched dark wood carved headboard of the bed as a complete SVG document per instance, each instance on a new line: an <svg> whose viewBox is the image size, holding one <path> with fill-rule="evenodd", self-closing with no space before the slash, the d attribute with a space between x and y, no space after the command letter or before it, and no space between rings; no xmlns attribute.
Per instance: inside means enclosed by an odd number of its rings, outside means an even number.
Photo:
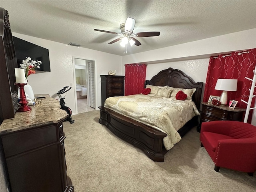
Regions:
<svg viewBox="0 0 256 192"><path fill-rule="evenodd" d="M194 82L190 76L187 76L181 70L173 68L162 70L153 76L151 80L146 80L144 87L146 88L146 85L148 84L155 86L167 85L170 87L186 89L196 88L196 92L193 94L192 100L195 102L197 109L200 109L203 82Z"/></svg>

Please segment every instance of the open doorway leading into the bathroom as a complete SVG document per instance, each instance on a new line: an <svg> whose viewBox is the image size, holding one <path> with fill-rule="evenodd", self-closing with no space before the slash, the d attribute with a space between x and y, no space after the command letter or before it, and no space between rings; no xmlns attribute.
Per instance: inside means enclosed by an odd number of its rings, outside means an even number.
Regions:
<svg viewBox="0 0 256 192"><path fill-rule="evenodd" d="M95 110L94 61L74 57L76 114Z"/></svg>

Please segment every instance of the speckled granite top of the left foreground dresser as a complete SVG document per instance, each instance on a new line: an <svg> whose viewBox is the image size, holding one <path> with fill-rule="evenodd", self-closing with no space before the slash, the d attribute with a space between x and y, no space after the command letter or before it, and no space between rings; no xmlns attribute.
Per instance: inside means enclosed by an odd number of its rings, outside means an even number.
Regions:
<svg viewBox="0 0 256 192"><path fill-rule="evenodd" d="M68 117L65 110L60 109L60 102L47 94L37 94L35 97L46 98L36 100L32 110L16 112L14 118L5 119L0 126L0 133L13 132L31 127L58 123Z"/></svg>

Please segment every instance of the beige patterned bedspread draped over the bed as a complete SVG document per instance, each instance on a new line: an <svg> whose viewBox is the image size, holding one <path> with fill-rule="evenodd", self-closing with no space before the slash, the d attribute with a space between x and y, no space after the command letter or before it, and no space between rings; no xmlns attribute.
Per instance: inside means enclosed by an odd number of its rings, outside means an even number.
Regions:
<svg viewBox="0 0 256 192"><path fill-rule="evenodd" d="M167 134L166 150L181 140L179 130L192 117L200 115L194 102L158 97L152 94L109 97L104 107Z"/></svg>

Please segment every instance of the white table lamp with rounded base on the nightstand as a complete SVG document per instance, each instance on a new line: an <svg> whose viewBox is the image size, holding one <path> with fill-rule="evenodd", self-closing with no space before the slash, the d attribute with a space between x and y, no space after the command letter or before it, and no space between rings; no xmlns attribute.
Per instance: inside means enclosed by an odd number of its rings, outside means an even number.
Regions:
<svg viewBox="0 0 256 192"><path fill-rule="evenodd" d="M219 101L222 105L226 105L228 104L227 91L236 91L236 88L237 79L218 79L214 89L223 91Z"/></svg>

